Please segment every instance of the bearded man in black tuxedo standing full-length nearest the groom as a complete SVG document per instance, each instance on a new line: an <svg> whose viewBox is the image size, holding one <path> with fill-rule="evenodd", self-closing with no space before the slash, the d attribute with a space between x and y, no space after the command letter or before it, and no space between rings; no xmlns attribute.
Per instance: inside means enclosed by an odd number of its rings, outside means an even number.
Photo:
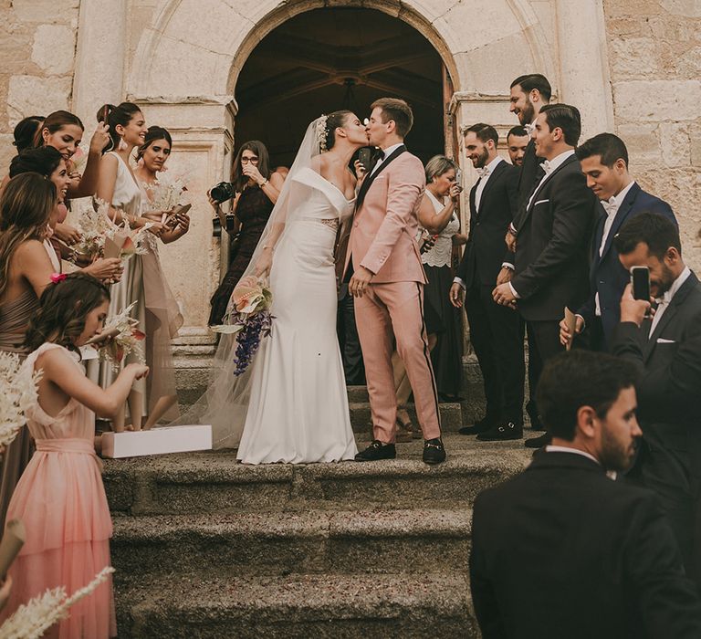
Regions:
<svg viewBox="0 0 701 639"><path fill-rule="evenodd" d="M483 441L523 435L523 335L518 313L492 299L502 264L504 233L518 205L518 169L497 153L499 135L488 124L465 131L465 154L479 172L470 191L470 234L450 289L453 305L463 305L470 341L485 384L487 414L460 429Z"/></svg>

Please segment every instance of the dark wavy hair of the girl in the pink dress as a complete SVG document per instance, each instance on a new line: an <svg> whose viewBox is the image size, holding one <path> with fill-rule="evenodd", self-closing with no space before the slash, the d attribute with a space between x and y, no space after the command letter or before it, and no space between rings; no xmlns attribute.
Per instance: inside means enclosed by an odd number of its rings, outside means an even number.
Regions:
<svg viewBox="0 0 701 639"><path fill-rule="evenodd" d="M71 273L49 284L39 299L39 310L29 322L25 345L36 351L50 341L78 351L75 340L85 330L88 313L110 301L110 289L86 273Z"/></svg>

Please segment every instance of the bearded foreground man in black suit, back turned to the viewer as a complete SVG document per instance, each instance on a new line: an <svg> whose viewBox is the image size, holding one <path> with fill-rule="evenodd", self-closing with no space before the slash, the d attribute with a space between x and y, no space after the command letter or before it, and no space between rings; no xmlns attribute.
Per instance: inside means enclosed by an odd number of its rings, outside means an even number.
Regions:
<svg viewBox="0 0 701 639"><path fill-rule="evenodd" d="M484 639L697 639L701 602L651 491L612 481L641 431L636 370L570 351L540 378L552 445L475 501L470 588Z"/></svg>

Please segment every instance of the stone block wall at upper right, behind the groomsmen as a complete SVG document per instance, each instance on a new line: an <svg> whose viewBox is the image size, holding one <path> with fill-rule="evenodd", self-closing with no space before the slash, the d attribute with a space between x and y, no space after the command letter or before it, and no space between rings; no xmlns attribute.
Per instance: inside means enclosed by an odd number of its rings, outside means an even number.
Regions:
<svg viewBox="0 0 701 639"><path fill-rule="evenodd" d="M672 204L701 267L701 3L604 0L617 133L643 188Z"/></svg>

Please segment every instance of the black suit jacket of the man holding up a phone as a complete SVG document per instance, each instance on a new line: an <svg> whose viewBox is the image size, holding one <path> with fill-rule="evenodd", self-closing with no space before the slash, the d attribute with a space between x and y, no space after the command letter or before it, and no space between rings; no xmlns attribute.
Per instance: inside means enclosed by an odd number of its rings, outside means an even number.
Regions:
<svg viewBox="0 0 701 639"><path fill-rule="evenodd" d="M692 273L676 291L654 333L650 319L638 328L621 322L612 353L633 361L642 377L636 386L643 438L662 431L670 448L688 453L701 439L701 283ZM693 469L701 473L697 458ZM701 635L699 635L701 636Z"/></svg>

